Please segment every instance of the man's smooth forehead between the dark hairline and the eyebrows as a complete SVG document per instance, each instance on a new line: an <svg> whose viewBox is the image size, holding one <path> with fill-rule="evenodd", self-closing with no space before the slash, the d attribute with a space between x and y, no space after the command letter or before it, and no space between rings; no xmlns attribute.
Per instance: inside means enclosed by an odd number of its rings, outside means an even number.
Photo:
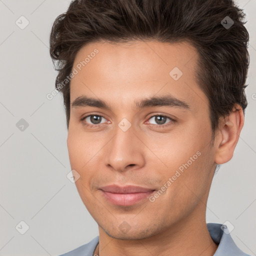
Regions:
<svg viewBox="0 0 256 256"><path fill-rule="evenodd" d="M92 42L76 54L70 102L81 94L109 102L119 99L123 104L141 95L171 93L205 104L207 99L195 81L197 60L196 49L184 41Z"/></svg>

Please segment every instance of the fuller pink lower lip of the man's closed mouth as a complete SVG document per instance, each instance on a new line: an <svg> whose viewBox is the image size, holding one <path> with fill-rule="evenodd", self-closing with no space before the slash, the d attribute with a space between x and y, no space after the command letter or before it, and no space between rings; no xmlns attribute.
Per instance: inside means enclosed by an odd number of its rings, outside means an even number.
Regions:
<svg viewBox="0 0 256 256"><path fill-rule="evenodd" d="M130 193L130 194L118 194L118 193L106 192L103 190L101 191L103 196L109 202L117 205L128 206L145 199L150 194L152 194L155 190L148 191L148 192Z"/></svg>

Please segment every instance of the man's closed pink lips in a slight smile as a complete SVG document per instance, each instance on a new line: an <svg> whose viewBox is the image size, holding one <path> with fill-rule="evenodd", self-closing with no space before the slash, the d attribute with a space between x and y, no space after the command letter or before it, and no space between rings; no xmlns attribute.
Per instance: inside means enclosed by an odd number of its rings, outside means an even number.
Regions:
<svg viewBox="0 0 256 256"><path fill-rule="evenodd" d="M121 205L129 206L148 198L155 189L145 188L140 186L118 186L108 185L100 188L102 196L107 199L108 202Z"/></svg>

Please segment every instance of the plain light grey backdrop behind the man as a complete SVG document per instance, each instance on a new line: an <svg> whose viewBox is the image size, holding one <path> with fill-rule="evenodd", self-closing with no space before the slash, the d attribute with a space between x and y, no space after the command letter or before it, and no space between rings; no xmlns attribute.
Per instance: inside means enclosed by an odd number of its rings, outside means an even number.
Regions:
<svg viewBox="0 0 256 256"><path fill-rule="evenodd" d="M237 2L247 15L250 33L248 106L233 158L222 164L213 178L206 220L228 220L234 226L231 236L235 243L244 252L256 255L256 1ZM61 95L46 98L54 89L57 74L48 52L49 32L53 20L69 3L70 0L0 0L2 256L59 255L98 234L97 224L75 184L66 177L70 164ZM15 23L21 23L21 15L29 21L24 29ZM23 131L16 126L21 118L28 123ZM21 220L29 226L24 234L15 228L24 228Z"/></svg>

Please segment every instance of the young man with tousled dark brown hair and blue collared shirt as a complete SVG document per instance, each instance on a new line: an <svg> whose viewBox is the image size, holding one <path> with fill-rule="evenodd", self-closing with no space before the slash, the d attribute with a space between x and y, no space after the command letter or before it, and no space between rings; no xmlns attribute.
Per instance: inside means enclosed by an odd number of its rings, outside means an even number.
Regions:
<svg viewBox="0 0 256 256"><path fill-rule="evenodd" d="M70 165L99 230L63 255L246 255L205 220L244 123L243 17L231 0L75 0L56 18Z"/></svg>

